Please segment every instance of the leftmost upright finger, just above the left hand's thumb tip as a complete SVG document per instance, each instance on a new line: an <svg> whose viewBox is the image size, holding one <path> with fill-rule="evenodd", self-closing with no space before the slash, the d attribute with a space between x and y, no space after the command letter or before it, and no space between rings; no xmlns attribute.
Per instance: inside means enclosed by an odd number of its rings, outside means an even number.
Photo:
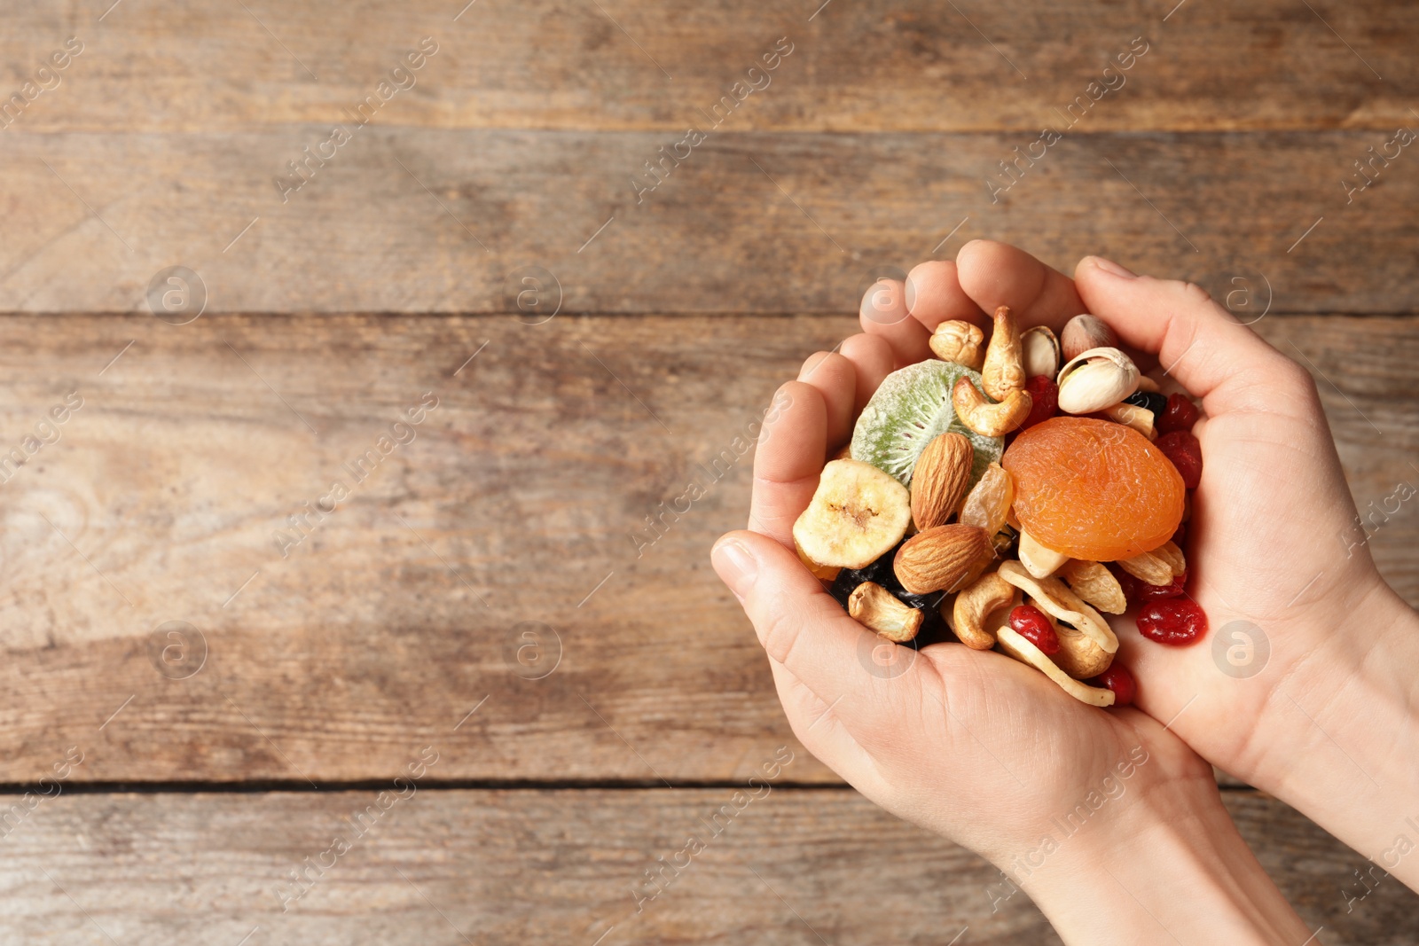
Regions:
<svg viewBox="0 0 1419 946"><path fill-rule="evenodd" d="M793 522L807 509L827 455L827 406L812 384L788 382L773 396L753 451L749 528L793 547Z"/></svg>

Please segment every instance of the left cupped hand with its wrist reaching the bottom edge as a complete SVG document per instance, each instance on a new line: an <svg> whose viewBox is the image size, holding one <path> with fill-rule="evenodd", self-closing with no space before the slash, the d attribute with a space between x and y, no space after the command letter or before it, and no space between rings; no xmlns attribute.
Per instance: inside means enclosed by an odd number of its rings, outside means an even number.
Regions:
<svg viewBox="0 0 1419 946"><path fill-rule="evenodd" d="M1069 279L1036 275L1033 286L1012 279L1020 292L1002 301L1054 323L1081 311ZM956 308L939 318L964 318L976 304L949 277L937 282ZM914 311L942 298L914 298ZM790 530L824 460L881 379L928 356L922 321L864 323L870 333L815 355L780 389L755 455L751 529L714 550L795 735L868 798L990 858L1006 874L995 896L1017 884L1069 942L1159 939L1159 923L1182 942L1304 940L1210 769L1162 723L1084 706L1000 654L887 644L797 560ZM1208 909L1189 906L1198 899Z"/></svg>

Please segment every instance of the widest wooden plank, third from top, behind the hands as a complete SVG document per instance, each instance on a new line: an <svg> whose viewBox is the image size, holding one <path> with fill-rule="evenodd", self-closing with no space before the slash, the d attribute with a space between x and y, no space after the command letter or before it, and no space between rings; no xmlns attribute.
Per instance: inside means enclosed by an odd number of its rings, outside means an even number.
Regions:
<svg viewBox="0 0 1419 946"><path fill-rule="evenodd" d="M748 777L792 738L707 552L745 521L735 438L854 326L0 319L0 454L84 399L3 484L0 781L70 745L88 781L360 780L433 740L448 779ZM1256 328L1340 386L1321 394L1362 506L1415 482L1419 321ZM356 482L345 464L426 391L396 430L414 440ZM691 478L707 495L667 513ZM292 528L335 481L350 495ZM1406 508L1372 539L1410 601L1416 538ZM169 621L201 631L200 669ZM514 672L525 621L559 635L545 679ZM834 780L806 757L792 777Z"/></svg>

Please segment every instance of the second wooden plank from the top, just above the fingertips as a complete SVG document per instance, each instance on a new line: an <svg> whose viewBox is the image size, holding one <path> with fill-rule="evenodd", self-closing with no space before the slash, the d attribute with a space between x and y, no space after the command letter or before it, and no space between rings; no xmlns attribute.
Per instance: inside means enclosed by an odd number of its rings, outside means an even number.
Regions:
<svg viewBox="0 0 1419 946"><path fill-rule="evenodd" d="M1070 136L1003 193L1029 136L724 133L646 193L660 133L372 128L282 203L328 136L0 138L0 311L148 312L180 264L210 312L515 312L532 265L563 312L851 312L881 267L981 235L1244 278L1273 312L1419 309L1403 152L1347 204L1374 132Z"/></svg>

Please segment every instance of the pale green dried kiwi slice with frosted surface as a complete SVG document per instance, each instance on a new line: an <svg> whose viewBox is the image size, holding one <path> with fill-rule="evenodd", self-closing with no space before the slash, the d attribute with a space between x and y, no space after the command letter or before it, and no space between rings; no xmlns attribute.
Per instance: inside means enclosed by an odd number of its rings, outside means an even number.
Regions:
<svg viewBox="0 0 1419 946"><path fill-rule="evenodd" d="M951 387L966 376L979 387L981 374L955 362L918 362L888 374L867 401L853 430L853 460L891 474L901 485L911 482L917 457L937 435L964 434L975 447L973 485L985 468L1000 460L1005 441L983 437L959 420L951 407Z"/></svg>

